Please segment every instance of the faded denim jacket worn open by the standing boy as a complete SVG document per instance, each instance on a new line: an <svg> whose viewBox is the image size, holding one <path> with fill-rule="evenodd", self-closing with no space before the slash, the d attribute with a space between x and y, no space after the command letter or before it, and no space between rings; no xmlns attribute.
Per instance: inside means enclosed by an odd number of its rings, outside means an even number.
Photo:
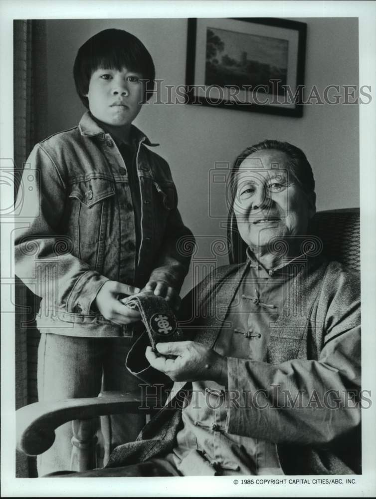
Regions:
<svg viewBox="0 0 376 499"><path fill-rule="evenodd" d="M37 144L26 162L15 204L15 273L42 298L41 331L128 335L92 306L109 279L143 287L155 278L180 291L194 240L178 211L169 165L145 147L156 144L136 127L133 135L142 205L138 255L123 158L89 112L78 127Z"/></svg>

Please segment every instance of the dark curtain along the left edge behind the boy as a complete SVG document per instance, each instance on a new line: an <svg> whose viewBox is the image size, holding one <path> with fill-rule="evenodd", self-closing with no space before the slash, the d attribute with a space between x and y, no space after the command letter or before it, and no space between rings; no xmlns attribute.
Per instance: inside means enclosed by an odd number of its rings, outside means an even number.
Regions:
<svg viewBox="0 0 376 499"><path fill-rule="evenodd" d="M46 136L46 21L13 21L14 196L34 144ZM17 221L15 220L15 223ZM35 314L39 299L15 277L16 409L37 401L36 363L39 333ZM16 453L16 477L35 477L35 459Z"/></svg>

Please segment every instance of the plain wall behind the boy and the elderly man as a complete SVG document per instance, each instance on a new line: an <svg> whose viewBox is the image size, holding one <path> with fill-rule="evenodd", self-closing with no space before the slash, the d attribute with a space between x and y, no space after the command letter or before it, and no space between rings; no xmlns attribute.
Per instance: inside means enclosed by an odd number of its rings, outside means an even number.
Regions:
<svg viewBox="0 0 376 499"><path fill-rule="evenodd" d="M306 86L316 85L322 91L330 84L357 85L357 19L297 20L308 24ZM166 85L185 82L186 19L48 20L49 134L78 123L84 109L72 78L76 51L87 38L109 27L126 29L143 41L153 56L157 78L163 78ZM135 124L152 141L161 143L158 152L170 163L182 216L193 233L202 236L201 252L196 255L201 272L213 241L209 236L225 236L220 219L209 216L225 215L226 211L223 188L216 184L213 190L208 181L210 170L215 162L232 163L241 150L260 140L286 140L304 150L315 173L319 210L359 206L356 105L307 105L303 118L289 118L203 106L147 104ZM226 263L226 257L218 261ZM184 292L191 287L192 275Z"/></svg>

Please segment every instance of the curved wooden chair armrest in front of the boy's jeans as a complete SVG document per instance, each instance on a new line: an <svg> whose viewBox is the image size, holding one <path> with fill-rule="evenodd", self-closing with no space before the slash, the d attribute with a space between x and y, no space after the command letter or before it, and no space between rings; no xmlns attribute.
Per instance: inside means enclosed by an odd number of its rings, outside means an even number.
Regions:
<svg viewBox="0 0 376 499"><path fill-rule="evenodd" d="M146 401L132 393L103 392L99 397L36 402L16 411L17 449L28 456L42 454L55 440L55 429L75 419L97 416L150 412Z"/></svg>

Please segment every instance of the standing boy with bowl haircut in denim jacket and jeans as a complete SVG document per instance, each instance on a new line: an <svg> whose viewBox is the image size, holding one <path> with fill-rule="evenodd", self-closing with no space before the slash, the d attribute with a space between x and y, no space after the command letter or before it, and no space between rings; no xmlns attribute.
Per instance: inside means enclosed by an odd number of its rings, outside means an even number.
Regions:
<svg viewBox="0 0 376 499"><path fill-rule="evenodd" d="M178 306L190 260L179 251L179 240L192 236L170 168L132 125L154 87L148 50L106 29L81 46L73 72L89 111L32 150L27 164L36 174L24 171L21 214L29 223L15 241L16 273L42 297L39 400L138 390L124 364L140 314L119 298L144 288ZM143 425L141 415L111 417L112 445L134 440ZM56 431L39 476L69 469L71 438L70 424Z"/></svg>

